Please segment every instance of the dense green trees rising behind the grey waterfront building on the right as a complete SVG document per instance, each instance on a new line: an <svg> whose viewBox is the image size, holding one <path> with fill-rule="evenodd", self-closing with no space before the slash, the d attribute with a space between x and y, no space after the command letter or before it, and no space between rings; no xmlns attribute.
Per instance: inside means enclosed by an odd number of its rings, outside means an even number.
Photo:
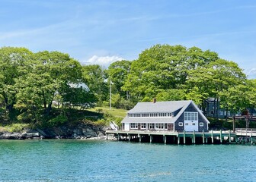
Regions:
<svg viewBox="0 0 256 182"><path fill-rule="evenodd" d="M197 47L155 45L135 61L111 64L107 73L116 86L117 105L123 99L131 103L192 99L205 111L210 97L216 101L215 110L219 104L232 112L256 105L256 80L248 80L235 62ZM214 115L218 117L216 111Z"/></svg>

